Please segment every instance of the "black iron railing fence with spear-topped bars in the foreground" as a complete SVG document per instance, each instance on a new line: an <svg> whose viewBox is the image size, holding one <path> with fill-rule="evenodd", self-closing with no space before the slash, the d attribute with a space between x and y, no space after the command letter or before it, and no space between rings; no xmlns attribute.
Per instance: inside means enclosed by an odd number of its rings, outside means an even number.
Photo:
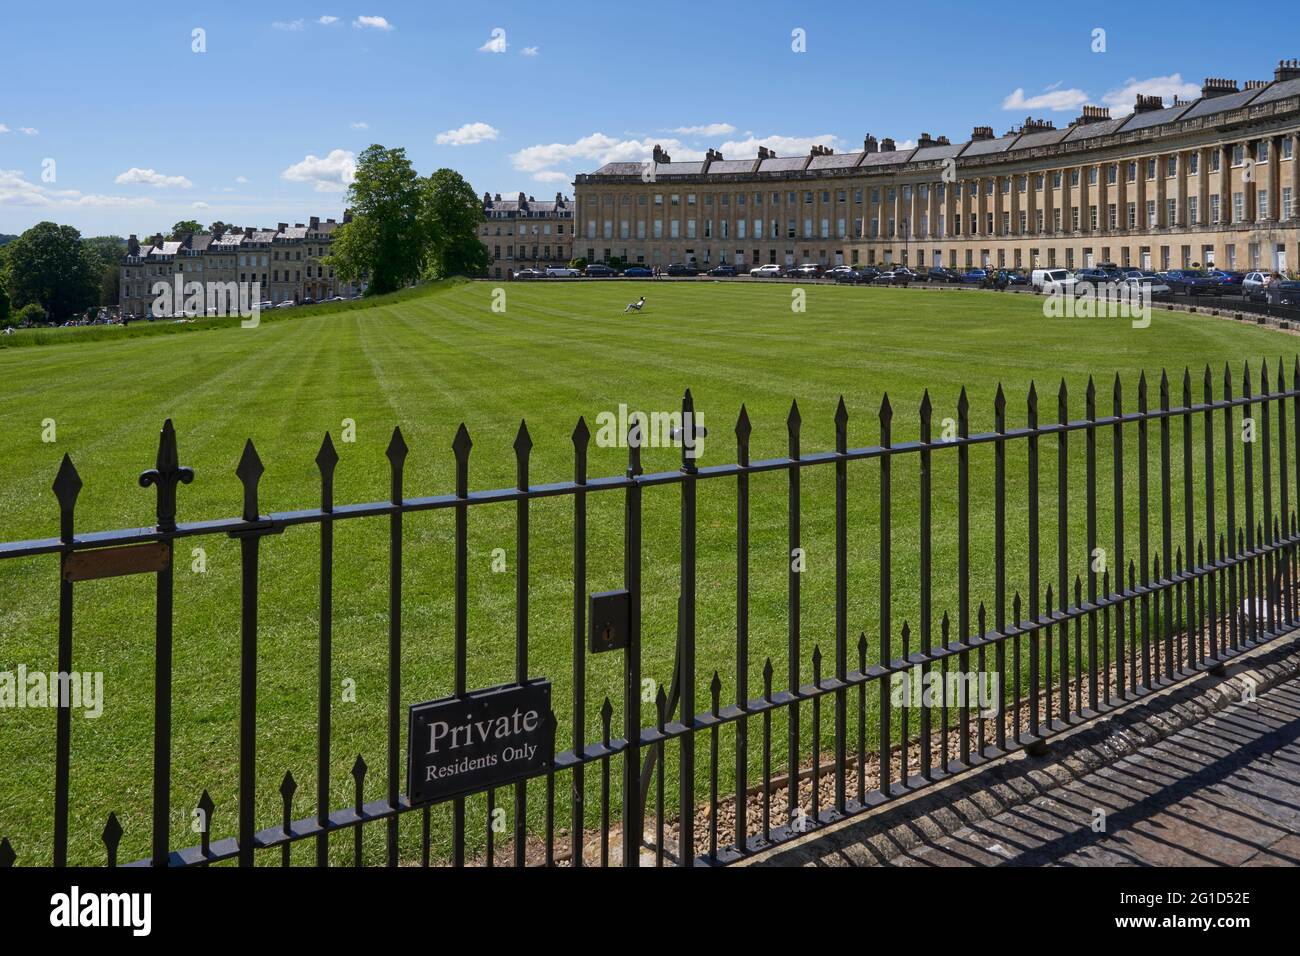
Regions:
<svg viewBox="0 0 1300 956"><path fill-rule="evenodd" d="M1270 385L1271 381L1271 385ZM993 402L994 429L970 432L970 403L965 389L957 403L956 421L945 423L944 434L935 437L933 407L928 392L919 406L919 433L896 440L893 407L888 395L878 412L876 445L850 447L849 411L844 403L835 414L835 449L805 453L801 445L802 420L797 405L786 419L788 454L783 458L750 459L753 425L742 407L736 423L736 460L729 464L697 466L682 438L681 466L673 471L646 473L641 464L644 436L636 420L630 423L628 462L623 475L589 477L588 451L592 433L580 419L572 434L573 479L552 484L532 484L529 457L533 447L525 424L520 424L514 451L516 481L512 488L471 490L469 459L473 444L464 424L451 445L455 458L455 489L450 494L407 497L403 471L408 454L399 428L387 447L390 494L386 501L338 505L334 502L334 471L339 457L326 433L316 457L320 471L320 503L298 511L264 514L259 499L263 463L254 444L244 445L235 475L243 488L239 518L190 522L177 520L179 485L195 480L191 468L179 462L177 436L168 420L159 440L153 468L140 475L142 486L156 493L156 523L151 528L82 533L74 527L74 510L82 488L69 457L64 457L53 483L58 505L60 533L56 538L0 544L0 561L60 557L57 666L61 674L73 671L73 596L75 583L110 574L148 572L156 575L155 654L153 654L153 777L151 852L139 865L188 866L226 860L239 865L269 862L278 856L290 864L294 843L315 842L315 861L329 862L330 836L350 832L352 858L360 865L363 831L382 822L387 865L402 861L450 862L467 865L497 860L494 839L504 832L493 826L497 810L510 808L508 838L514 865L530 862L573 866L597 861L636 866L719 864L741 858L776 845L811 829L879 806L918 788L979 766L1017 749L1040 750L1054 735L1080 722L1109 713L1173 682L1210 669L1292 630L1297 620L1297 546L1300 524L1292 507L1292 480L1300 493L1300 358L1292 365L1287 385L1283 367L1270 376L1265 363L1252 385L1245 367L1240 389L1234 394L1231 372L1222 373L1221 394L1214 397L1216 376L1206 367L1200 401L1193 398L1192 376L1184 371L1180 402L1173 403L1174 384L1162 373L1156 405L1145 375L1136 388L1136 411L1124 411L1119 376L1112 388L1110 412L1098 412L1098 394L1092 380L1084 395L1084 418L1070 418L1065 382L1057 392L1056 419L1043 420L1039 394L1030 386L1023 406L1023 425L1009 423L1008 402L998 386ZM681 405L681 421L692 428L697 419L690 392ZM1175 445L1175 429L1178 425ZM1288 434L1290 431L1290 434ZM1113 528L1098 527L1098 493L1108 496L1102 472L1108 463L1097 451L1098 436L1110 444L1109 503ZM1071 455L1080 454L1086 467L1083 488L1071 489ZM1258 446L1258 460L1256 460ZM1009 450L1026 457L1022 496L1009 496ZM989 486L971 488L972 454L991 454ZM1044 458L1054 457L1054 479L1044 468ZM1156 459L1153 475L1152 459ZM935 462L954 467L956 479L956 617L933 607L935 545L933 494ZM915 580L894 575L898 545L894 542L897 480L904 477L896 463L916 463L915 485L902 489L916 503L919 535ZM852 466L871 463L879 485L879 620L875 640L867 628L849 623L849 555L852 548L871 541L871 529L849 528L849 477ZM1200 467L1197 467L1197 464ZM1240 480L1238 479L1240 467ZM790 551L801 548L805 523L801 515L801 477L810 468L833 473L835 607L833 643L823 657L815 645L811 659L803 661L801 575L794 564L786 584L788 633L785 670L767 657L762 667L762 688L749 685L750 652L750 480L755 475L785 476L786 528ZM1136 480L1132 470L1136 468ZM913 475L906 477L913 480ZM724 700L723 675L697 672L697 496L701 481L734 483L734 594L736 639L734 675ZM1221 481L1219 485L1216 483ZM1078 483L1074 483L1078 484ZM675 485L680 496L680 593L672 685L660 685L654 702L642 702L641 578L644 564L644 496L660 485ZM1056 528L1043 520L1043 499L1054 485ZM1178 494L1175 494L1175 490ZM623 587L628 601L628 627L623 635L621 727L615 726L615 706L606 697L589 700L586 678L588 649L588 503L592 494L623 493ZM980 507L992 499L992 554L971 553L972 493ZM915 497L913 497L915 496ZM1136 554L1126 540L1126 509L1131 496L1138 499ZM1026 537L1009 537L1008 501L1023 501ZM572 715L566 728L569 745L558 750L543 770L512 778L474 793L447 799L451 821L450 857L434 858L430 804L412 803L402 792L403 713L402 676L402 558L404 518L413 512L451 509L454 511L454 697L471 698L467 685L468 656L468 523L473 509L490 505L515 506L516 588L514 687L532 680L529 669L529 506L542 498L567 498L573 505L572 524ZM1126 501L1130 503L1126 505ZM1180 535L1174 536L1174 509L1180 506ZM1070 541L1070 516L1086 512L1083 548ZM1197 514L1200 512L1200 514ZM909 512L909 520L911 512ZM386 748L372 760L384 760L382 793L367 792L368 763L358 754L351 777L355 799L348 806L330 806L330 737L333 674L333 589L334 525L338 522L386 518L389 524L387 580L387 698ZM946 519L945 519L946 520ZM296 525L316 525L320 532L318 597L318 705L316 726L317 775L312 812L295 816L299 783L286 773L278 788L282 818L266 826L255 816L259 787L268 786L257 766L257 639L259 567L263 538ZM1018 525L1017 525L1018 527ZM207 791L194 805L199 844L177 848L170 844L172 819L172 682L173 682L173 558L172 545L183 538L228 536L240 549L239 613L239 735L238 804L231 813L217 808ZM850 546L850 537L854 542ZM1041 567L1040 551L1048 541L1056 549L1057 567ZM1102 549L1102 542L1105 549ZM1109 550L1109 555L1097 559ZM1027 557L1026 591L1010 589L1008 555ZM1084 555L1087 561L1075 558ZM975 600L971 593L971 562L991 561L992 593ZM1087 566L1084 572L1075 570ZM707 581L716 585L719 581ZM1011 593L1009 593L1011 591ZM915 628L893 618L894 600L914 593L919 600ZM852 631L859 633L854 639ZM915 643L914 643L915 641ZM974 666L974 670L972 670ZM894 700L904 684L932 683L940 676L944 691L937 705ZM998 706L987 713L968 698L949 702L952 682L970 675L996 675ZM706 691L707 708L697 711L697 689ZM868 704L875 697L876 713ZM650 709L646 722L645 709ZM915 713L913 713L915 711ZM586 717L601 718L599 740L586 740ZM875 718L875 739L868 740L868 714ZM774 718L784 721L784 753L774 730ZM803 721L810 721L811 743L805 744ZM915 728L915 730L914 730ZM758 732L755 740L750 735ZM822 741L828 736L832 747ZM734 757L734 792L720 795L719 765L729 740ZM72 773L70 705L60 701L55 727L53 830L48 849L14 847L0 840L0 865L69 862L69 793ZM699 741L707 754L697 770ZM751 748L757 748L751 752ZM668 758L676 752L676 805L672 818L666 792L671 792ZM760 779L750 786L751 756L760 760ZM874 763L874 777L868 767ZM599 822L592 813L588 774L599 784ZM708 779L707 795L697 793L701 777ZM822 780L829 780L823 797ZM810 784L805 796L803 786ZM530 784L534 784L530 787ZM566 787L566 784L568 784ZM529 791L545 800L541 834L526 825ZM503 790L510 793L499 803ZM568 845L556 838L558 819L568 803ZM471 819L469 797L485 797L488 819ZM729 839L719 825L719 806L733 801ZM826 805L823 805L823 801ZM780 805L784 804L784 810ZM398 818L422 814L419 851L399 842ZM618 817L618 845L611 848ZM213 839L217 823L230 835ZM231 827L233 822L233 827ZM653 822L653 826L646 826ZM486 851L469 858L467 834L484 826ZM3 827L3 821L0 821ZM668 830L676 829L676 847L668 845ZM231 832L233 830L233 832ZM697 840L697 831L703 834ZM118 864L122 827L109 814L101 839L107 862ZM278 848L278 853L274 851ZM530 855L530 848L534 851ZM335 847L337 849L337 847Z"/></svg>

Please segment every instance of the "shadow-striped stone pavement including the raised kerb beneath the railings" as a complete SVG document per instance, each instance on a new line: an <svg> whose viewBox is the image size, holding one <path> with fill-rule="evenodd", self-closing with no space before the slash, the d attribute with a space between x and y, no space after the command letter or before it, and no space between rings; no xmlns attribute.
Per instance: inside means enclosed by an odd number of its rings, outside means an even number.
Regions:
<svg viewBox="0 0 1300 956"><path fill-rule="evenodd" d="M1200 697L1153 702L1184 717L1123 756L1091 766L1062 747L1018 754L894 814L814 834L759 865L785 866L1300 866L1300 658L1240 702L1242 679ZM1252 674L1257 672L1252 671ZM1247 682L1252 683L1252 682ZM1190 719L1188 719L1190 718ZM1171 728L1173 730L1173 728ZM1098 734L1105 731L1098 731ZM1126 736L1132 736L1126 732ZM1115 737L1110 737L1114 740ZM1078 753L1078 752L1076 752ZM918 793L918 796L920 796ZM985 812L987 809L987 812Z"/></svg>

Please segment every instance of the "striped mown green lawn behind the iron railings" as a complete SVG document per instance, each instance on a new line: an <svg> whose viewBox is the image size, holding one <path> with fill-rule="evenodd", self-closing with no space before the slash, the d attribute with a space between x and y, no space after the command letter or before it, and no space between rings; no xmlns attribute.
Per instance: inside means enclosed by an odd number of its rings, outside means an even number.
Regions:
<svg viewBox="0 0 1300 956"><path fill-rule="evenodd" d="M332 431L341 462L335 501L387 497L385 458L394 425L411 449L408 497L452 490L451 441L464 421L473 438L471 486L515 481L512 442L521 419L533 438L534 484L568 480L571 434L578 416L595 432L601 412L620 403L646 412L680 407L690 388L708 429L702 466L732 462L733 427L741 403L753 421L751 455L784 455L785 418L797 399L803 450L833 449L833 414L840 395L849 410L850 446L875 445L878 411L888 392L896 441L918 434L918 405L926 388L935 403L936 433L956 418L962 385L971 401L971 431L991 431L993 395L1006 389L1010 424L1024 421L1024 395L1036 380L1041 419L1056 416L1057 388L1070 388L1071 418L1083 416L1089 375L1098 380L1101 412L1110 407L1113 375L1123 375L1126 407L1136 407L1138 373L1152 377L1158 402L1161 368L1193 369L1195 394L1205 363L1216 381L1223 363L1239 375L1261 358L1290 368L1295 339L1242 323L1157 312L1145 329L1124 320L1044 319L1041 302L996 293L809 287L805 312L790 308L790 287L714 282L514 284L504 286L504 313L491 311L493 284L460 284L373 308L264 323L257 329L224 328L192 334L143 336L121 342L38 346L0 351L0 540L57 535L49 490L58 460L72 455L84 481L77 510L81 531L152 524L152 489L136 477L152 466L159 428L170 416L181 460L195 481L178 492L182 522L228 518L240 510L234 476L243 442L252 438L266 472L263 511L313 507L318 502L315 455ZM627 302L647 295L641 315L624 316ZM43 442L43 421L53 419L56 442ZM355 421L355 444L339 441L344 419ZM1275 420L1274 420L1275 425ZM1197 429L1200 425L1197 424ZM1152 427L1152 480L1158 488L1158 428ZM1216 436L1222 449L1222 434ZM1174 425L1175 467L1180 424ZM1136 434L1126 438L1128 486L1126 522L1136 553ZM1197 432L1196 457L1201 444ZM1277 457L1274 457L1277 458ZM1098 484L1110 488L1109 429L1098 437ZM590 451L590 475L619 475L623 449ZM1086 572L1083 436L1071 438L1071 574ZM646 449L646 471L680 463L673 449ZM1222 450L1218 464L1222 467ZM1056 568L1056 440L1043 441L1044 584ZM1200 466L1197 466L1200 467ZM1258 460L1256 463L1258 473ZM1277 460L1274 462L1277 467ZM956 614L956 455L935 453L935 607ZM972 602L992 604L992 446L971 451ZM1238 468L1240 481L1240 462ZM849 630L866 632L868 662L879 645L879 463L849 470ZM1026 587L1023 444L1009 453L1009 588ZM1175 471L1175 485L1180 473ZM918 467L902 457L893 470L893 619L916 623ZM1292 484L1292 488L1295 485ZM1222 480L1219 481L1222 489ZM734 693L736 559L734 481L699 484L698 706L708 701L714 669L723 698ZM786 669L786 475L758 475L751 483L751 692L762 687L771 656L777 689ZM1153 501L1156 492L1153 490ZM1222 490L1219 492L1222 496ZM1101 527L1112 527L1110 496L1101 493ZM679 593L679 490L645 493L644 674L668 682ZM1180 535L1175 496L1175 540ZM807 570L802 579L803 680L820 645L832 669L835 641L833 468L803 472L803 533ZM1204 509L1197 505L1197 522ZM588 591L620 587L623 496L590 497ZM469 512L469 687L512 679L515 653L515 509L474 507ZM1222 527L1222 524L1221 524ZM1153 541L1158 546L1158 512ZM1197 533L1201 533L1197 531ZM411 515L404 522L402 701L432 700L452 687L452 514ZM1109 537L1109 531L1104 535ZM348 770L358 753L370 767L365 799L385 792L387 675L387 522L341 522L335 531L334 731L332 804L350 805ZM532 507L529 581L529 671L554 682L558 748L571 745L572 713L572 501L547 498ZM207 570L191 571L190 549L205 549ZM286 770L300 784L294 816L315 809L317 548L315 527L290 528L261 545L259 633L259 826L281 816L278 786ZM494 574L493 550L504 549L508 571ZM57 579L53 557L0 562L0 671L56 666ZM237 816L239 551L225 538L186 538L177 551L174 652L173 845L191 845L188 809L207 788L216 803L213 838L234 834ZM121 858L148 853L152 773L153 583L148 576L77 585L74 669L103 671L103 717L73 717L72 858L103 860L99 834L109 810L125 830ZM901 646L892 635L894 653ZM915 648L915 640L913 639ZM937 640L937 637L936 637ZM855 662L855 650L850 650ZM588 739L598 740L604 695L621 727L621 657L589 659ZM355 702L344 700L355 682ZM832 721L823 713L828 745ZM868 705L868 715L875 706ZM646 706L644 723L653 721ZM404 730L403 717L403 730ZM868 727L874 728L874 717ZM805 718L805 734L807 734ZM868 730L868 741L871 739ZM731 732L724 747L731 747ZM758 728L751 736L758 757ZM784 762L784 726L775 724ZM0 835L9 836L20 862L48 862L53 813L53 710L0 711ZM807 741L809 747L811 741ZM868 743L868 748L870 748ZM707 793L707 741L699 741L701 786ZM404 754L404 740L403 740ZM805 748L805 760L809 756ZM723 766L728 766L723 761ZM751 780L757 774L751 774ZM673 779L673 777L670 777ZM729 770L724 770L724 782ZM588 775L589 822L598 813L598 774ZM404 783L403 783L404 786ZM568 818L568 782L558 786L556 817ZM618 784L615 801L618 803ZM502 800L502 803L507 803ZM530 788L529 822L542 821L542 787ZM472 801L471 842L484 839L481 800ZM448 827L434 813L436 853L445 852ZM403 855L417 853L419 821L403 819ZM350 838L338 836L346 860ZM368 858L382 855L382 827L367 832ZM311 847L295 853L307 861ZM278 855L274 857L278 860Z"/></svg>

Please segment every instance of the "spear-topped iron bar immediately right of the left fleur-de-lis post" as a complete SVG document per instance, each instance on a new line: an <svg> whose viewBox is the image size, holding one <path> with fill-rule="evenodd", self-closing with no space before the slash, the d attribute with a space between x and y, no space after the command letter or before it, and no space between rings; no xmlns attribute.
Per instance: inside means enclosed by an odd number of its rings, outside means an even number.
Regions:
<svg viewBox="0 0 1300 956"><path fill-rule="evenodd" d="M243 484L246 522L259 520L257 481L264 468L252 440L235 476ZM242 563L239 622L239 865L252 866L257 795L257 545L256 532L239 537Z"/></svg>

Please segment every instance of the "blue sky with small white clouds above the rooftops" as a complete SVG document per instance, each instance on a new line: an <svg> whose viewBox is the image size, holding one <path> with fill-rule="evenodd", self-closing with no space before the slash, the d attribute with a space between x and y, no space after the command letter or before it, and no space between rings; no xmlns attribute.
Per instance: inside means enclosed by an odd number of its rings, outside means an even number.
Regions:
<svg viewBox="0 0 1300 956"><path fill-rule="evenodd" d="M1268 79L1300 57L1280 5L1166 9L0 0L0 233L338 217L374 142L478 193L541 198L656 142L692 159L855 150L866 133L958 140L1028 114L1061 126L1083 103L1126 109L1136 91L1192 96L1206 75Z"/></svg>

